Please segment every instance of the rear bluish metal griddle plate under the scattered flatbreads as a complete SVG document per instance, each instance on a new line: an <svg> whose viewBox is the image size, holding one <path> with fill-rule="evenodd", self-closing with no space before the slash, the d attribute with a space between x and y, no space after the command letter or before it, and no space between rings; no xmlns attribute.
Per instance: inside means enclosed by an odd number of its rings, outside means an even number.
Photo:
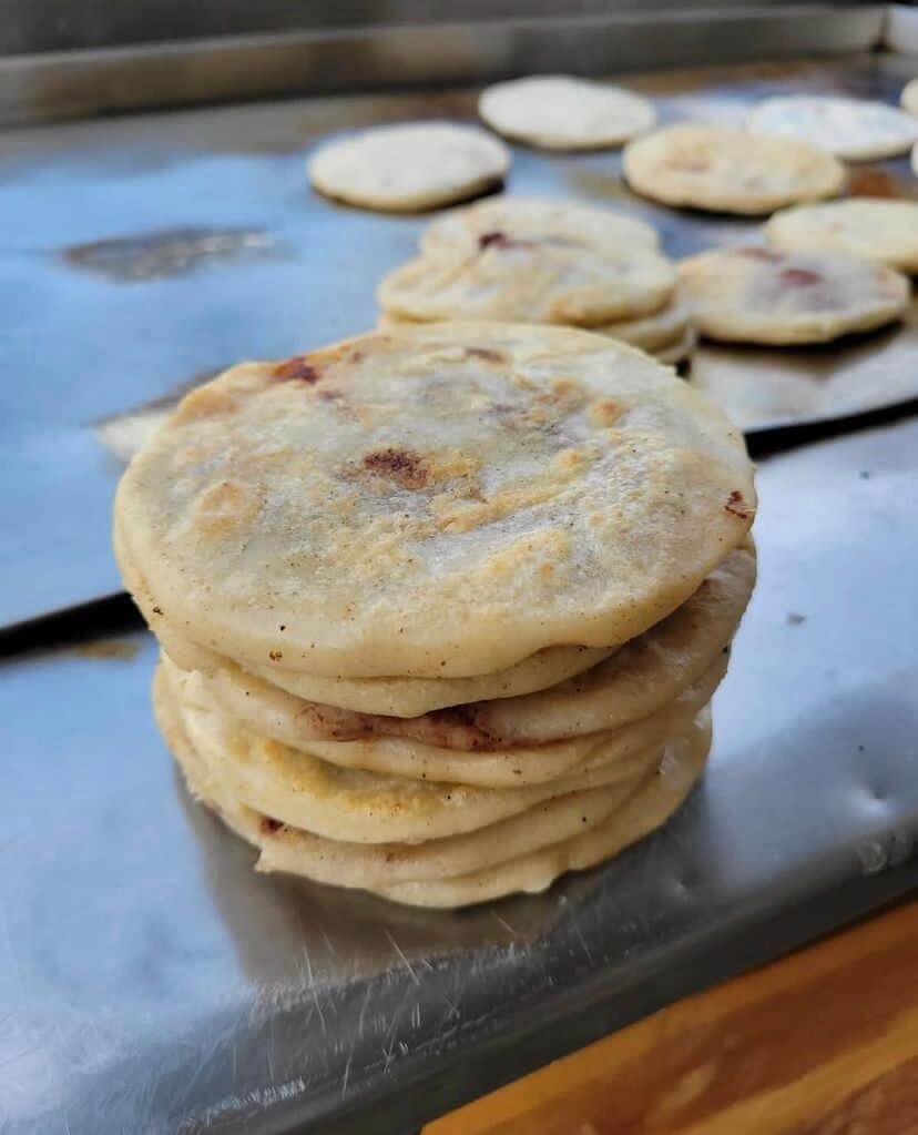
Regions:
<svg viewBox="0 0 918 1135"><path fill-rule="evenodd" d="M901 56L630 77L664 120L731 120L775 90L894 101ZM310 193L305 155L346 127L468 118L474 92L300 99L0 134L0 628L109 595L117 418L252 356L372 325L373 289L412 255L422 218L342 209ZM859 167L860 192L918 194L903 160ZM755 225L656 208L615 153L516 148L508 190L633 210L673 255ZM907 329L812 352L702 351L696 380L750 429L918 396L918 312ZM743 376L751 381L742 381Z"/></svg>

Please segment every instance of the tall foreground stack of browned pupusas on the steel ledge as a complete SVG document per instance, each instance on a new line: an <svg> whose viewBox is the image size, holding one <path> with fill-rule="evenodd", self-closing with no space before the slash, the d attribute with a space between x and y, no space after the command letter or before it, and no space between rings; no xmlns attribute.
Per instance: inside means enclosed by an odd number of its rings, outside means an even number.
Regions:
<svg viewBox="0 0 918 1135"><path fill-rule="evenodd" d="M187 395L115 544L161 728L260 867L454 907L675 810L753 511L741 436L647 355L441 323Z"/></svg>

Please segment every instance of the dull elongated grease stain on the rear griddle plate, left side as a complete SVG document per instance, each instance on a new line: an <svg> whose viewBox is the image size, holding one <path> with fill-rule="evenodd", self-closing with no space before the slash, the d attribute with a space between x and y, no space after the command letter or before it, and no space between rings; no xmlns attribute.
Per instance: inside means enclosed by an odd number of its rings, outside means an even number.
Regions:
<svg viewBox="0 0 918 1135"><path fill-rule="evenodd" d="M73 268L132 284L277 250L276 239L263 229L188 226L73 244L61 250L61 257Z"/></svg>

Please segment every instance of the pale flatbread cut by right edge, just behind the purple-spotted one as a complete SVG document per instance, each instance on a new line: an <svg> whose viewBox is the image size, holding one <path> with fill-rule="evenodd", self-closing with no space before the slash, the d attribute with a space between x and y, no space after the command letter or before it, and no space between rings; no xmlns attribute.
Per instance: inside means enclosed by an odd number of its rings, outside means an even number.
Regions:
<svg viewBox="0 0 918 1135"><path fill-rule="evenodd" d="M918 202L853 197L775 213L765 234L782 252L842 252L918 272Z"/></svg>

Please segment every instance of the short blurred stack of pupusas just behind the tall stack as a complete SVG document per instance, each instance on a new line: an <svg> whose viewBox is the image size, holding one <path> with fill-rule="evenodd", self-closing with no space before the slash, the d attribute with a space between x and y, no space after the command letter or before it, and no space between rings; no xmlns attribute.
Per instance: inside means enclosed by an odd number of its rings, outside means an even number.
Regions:
<svg viewBox="0 0 918 1135"><path fill-rule="evenodd" d="M444 213L378 292L380 327L437 320L562 323L676 364L694 347L675 267L643 221L570 201L489 197Z"/></svg>

